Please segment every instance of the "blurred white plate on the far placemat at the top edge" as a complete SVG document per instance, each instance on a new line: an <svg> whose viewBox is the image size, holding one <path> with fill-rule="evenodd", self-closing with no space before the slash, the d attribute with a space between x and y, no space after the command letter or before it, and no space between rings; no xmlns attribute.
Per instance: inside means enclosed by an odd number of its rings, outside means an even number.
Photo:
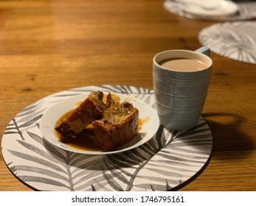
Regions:
<svg viewBox="0 0 256 206"><path fill-rule="evenodd" d="M207 10L204 9L204 7L200 7L196 4L190 4L189 2L187 2L186 6L184 6L183 9L187 13L204 18L226 17L238 13L239 10L238 4L235 4L232 1L221 1L220 6L212 10Z"/></svg>

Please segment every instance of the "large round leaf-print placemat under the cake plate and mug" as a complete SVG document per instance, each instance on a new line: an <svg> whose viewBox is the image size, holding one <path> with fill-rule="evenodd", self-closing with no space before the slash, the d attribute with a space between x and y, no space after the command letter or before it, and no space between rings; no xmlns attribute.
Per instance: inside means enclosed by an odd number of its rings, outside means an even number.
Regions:
<svg viewBox="0 0 256 206"><path fill-rule="evenodd" d="M46 96L24 108L4 131L1 152L15 177L38 191L168 191L207 163L212 134L203 118L183 132L160 126L151 141L117 154L77 154L44 141L39 122L46 108L93 90L128 93L155 107L153 90L124 85L74 88Z"/></svg>

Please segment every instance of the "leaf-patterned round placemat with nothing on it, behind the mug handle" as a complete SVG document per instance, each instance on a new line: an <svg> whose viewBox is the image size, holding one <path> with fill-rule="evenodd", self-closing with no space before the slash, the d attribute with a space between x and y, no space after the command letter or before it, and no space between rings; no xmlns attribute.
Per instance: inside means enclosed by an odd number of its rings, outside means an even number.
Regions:
<svg viewBox="0 0 256 206"><path fill-rule="evenodd" d="M256 22L213 24L199 32L198 40L216 54L245 63L256 63Z"/></svg>

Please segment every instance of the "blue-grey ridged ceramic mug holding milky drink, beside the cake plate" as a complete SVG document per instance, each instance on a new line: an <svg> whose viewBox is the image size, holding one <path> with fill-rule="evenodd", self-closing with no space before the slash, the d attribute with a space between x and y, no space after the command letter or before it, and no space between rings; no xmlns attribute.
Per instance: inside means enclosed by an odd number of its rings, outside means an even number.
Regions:
<svg viewBox="0 0 256 206"><path fill-rule="evenodd" d="M167 129L186 130L196 126L210 85L210 49L162 51L153 57L153 90L160 123ZM177 71L160 63L167 59L189 58L206 66L201 70ZM186 65L184 65L186 67Z"/></svg>

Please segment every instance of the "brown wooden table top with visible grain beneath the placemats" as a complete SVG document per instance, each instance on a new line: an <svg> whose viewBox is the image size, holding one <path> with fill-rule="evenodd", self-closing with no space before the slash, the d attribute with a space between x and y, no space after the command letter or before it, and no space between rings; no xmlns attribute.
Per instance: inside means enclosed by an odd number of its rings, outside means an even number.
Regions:
<svg viewBox="0 0 256 206"><path fill-rule="evenodd" d="M153 88L152 59L195 50L213 21L168 13L162 0L0 1L0 136L24 107L87 85ZM203 116L213 137L210 163L181 191L256 190L256 67L211 54ZM0 153L0 191L31 191Z"/></svg>

